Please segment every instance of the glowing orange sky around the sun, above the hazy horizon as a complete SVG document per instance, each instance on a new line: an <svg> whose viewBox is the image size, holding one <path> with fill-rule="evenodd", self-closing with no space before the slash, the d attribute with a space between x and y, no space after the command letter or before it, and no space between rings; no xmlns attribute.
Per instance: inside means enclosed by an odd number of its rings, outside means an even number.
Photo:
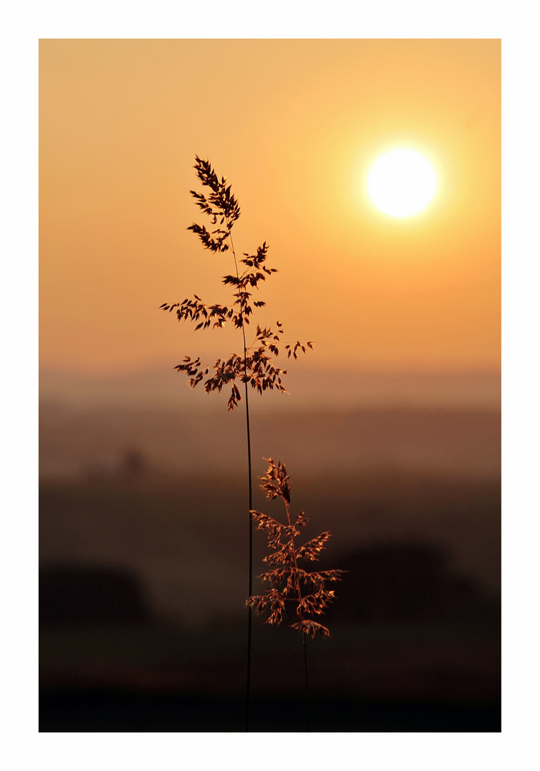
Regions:
<svg viewBox="0 0 540 771"><path fill-rule="evenodd" d="M197 153L238 197L237 250L270 244L280 272L260 321L314 340L309 365L498 368L500 41L39 49L42 366L127 371L239 349L157 310L194 292L228 301L228 254L186 230L203 221L188 192ZM370 163L399 143L439 179L430 207L404 220L365 193Z"/></svg>

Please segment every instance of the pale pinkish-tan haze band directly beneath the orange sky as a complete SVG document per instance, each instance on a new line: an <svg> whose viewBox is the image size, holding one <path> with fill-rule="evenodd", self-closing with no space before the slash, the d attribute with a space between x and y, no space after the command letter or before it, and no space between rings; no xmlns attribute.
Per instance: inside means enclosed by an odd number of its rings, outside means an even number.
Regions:
<svg viewBox="0 0 540 771"><path fill-rule="evenodd" d="M224 394L207 396L200 386L190 389L184 376L174 372L177 362L168 359L153 368L116 374L40 369L39 394L44 402L79 409L224 409ZM500 372L362 372L339 367L318 369L314 362L316 354L291 366L285 382L289 393L285 396L265 392L261 398L254 392L255 409L302 412L329 407L350 410L393 406L492 410L501 406Z"/></svg>

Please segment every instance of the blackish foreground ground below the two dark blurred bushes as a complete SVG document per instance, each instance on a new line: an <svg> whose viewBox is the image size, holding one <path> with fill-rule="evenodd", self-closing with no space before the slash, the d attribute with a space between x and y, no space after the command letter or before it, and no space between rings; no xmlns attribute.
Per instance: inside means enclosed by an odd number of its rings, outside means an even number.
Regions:
<svg viewBox="0 0 540 771"><path fill-rule="evenodd" d="M242 732L245 619L41 631L41 732ZM254 619L250 730L304 732L302 638ZM308 641L315 732L499 732L497 614L335 621Z"/></svg>

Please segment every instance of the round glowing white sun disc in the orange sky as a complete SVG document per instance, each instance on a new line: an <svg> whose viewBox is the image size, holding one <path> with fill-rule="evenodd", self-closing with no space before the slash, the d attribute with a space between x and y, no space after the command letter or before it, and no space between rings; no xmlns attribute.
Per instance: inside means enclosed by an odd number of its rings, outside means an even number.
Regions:
<svg viewBox="0 0 540 771"><path fill-rule="evenodd" d="M434 197L437 180L427 160L414 150L390 150L373 164L367 180L371 200L391 217L410 217Z"/></svg>

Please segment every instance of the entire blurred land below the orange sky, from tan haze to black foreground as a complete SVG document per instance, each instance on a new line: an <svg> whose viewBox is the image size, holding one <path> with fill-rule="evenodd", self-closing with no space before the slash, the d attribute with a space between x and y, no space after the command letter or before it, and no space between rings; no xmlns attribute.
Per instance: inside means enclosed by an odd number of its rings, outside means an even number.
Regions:
<svg viewBox="0 0 540 771"><path fill-rule="evenodd" d="M287 385L250 402L254 474L285 460L322 569L348 571L309 641L312 730L500 731L500 376ZM242 410L170 368L40 392L40 730L243 730ZM304 730L302 655L254 619L252 730Z"/></svg>

